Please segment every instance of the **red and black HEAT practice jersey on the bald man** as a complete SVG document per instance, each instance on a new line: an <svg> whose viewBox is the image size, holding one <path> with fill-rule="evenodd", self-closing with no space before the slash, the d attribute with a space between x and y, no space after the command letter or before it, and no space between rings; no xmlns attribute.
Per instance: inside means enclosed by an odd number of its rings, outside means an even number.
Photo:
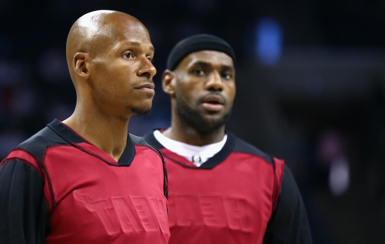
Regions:
<svg viewBox="0 0 385 244"><path fill-rule="evenodd" d="M164 161L129 134L119 162L54 120L0 166L0 243L167 244Z"/></svg>

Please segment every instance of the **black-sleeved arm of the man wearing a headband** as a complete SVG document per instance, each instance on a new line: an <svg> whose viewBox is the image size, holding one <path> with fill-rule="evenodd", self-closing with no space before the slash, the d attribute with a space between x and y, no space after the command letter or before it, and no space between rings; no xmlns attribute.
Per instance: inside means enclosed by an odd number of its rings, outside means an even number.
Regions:
<svg viewBox="0 0 385 244"><path fill-rule="evenodd" d="M301 193L285 166L278 205L267 225L264 244L311 244L311 234Z"/></svg>

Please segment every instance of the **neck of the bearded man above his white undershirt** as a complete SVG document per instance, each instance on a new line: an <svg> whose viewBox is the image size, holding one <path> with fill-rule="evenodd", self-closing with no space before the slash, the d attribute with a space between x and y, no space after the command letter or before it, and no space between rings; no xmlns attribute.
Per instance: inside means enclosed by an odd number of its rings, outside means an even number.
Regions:
<svg viewBox="0 0 385 244"><path fill-rule="evenodd" d="M222 141L225 134L225 126L223 125L209 133L202 133L191 127L175 113L172 113L171 127L166 129L163 134L176 141L194 146L204 146Z"/></svg>

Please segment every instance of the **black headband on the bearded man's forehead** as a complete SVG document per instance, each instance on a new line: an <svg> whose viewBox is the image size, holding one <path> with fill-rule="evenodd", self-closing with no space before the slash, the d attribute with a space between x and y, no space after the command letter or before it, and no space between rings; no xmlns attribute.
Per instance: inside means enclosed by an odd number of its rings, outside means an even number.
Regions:
<svg viewBox="0 0 385 244"><path fill-rule="evenodd" d="M233 58L234 68L236 66L235 53L229 43L213 35L199 34L179 41L174 48L172 48L167 58L166 68L168 70L174 70L185 56L201 50L214 50L226 53Z"/></svg>

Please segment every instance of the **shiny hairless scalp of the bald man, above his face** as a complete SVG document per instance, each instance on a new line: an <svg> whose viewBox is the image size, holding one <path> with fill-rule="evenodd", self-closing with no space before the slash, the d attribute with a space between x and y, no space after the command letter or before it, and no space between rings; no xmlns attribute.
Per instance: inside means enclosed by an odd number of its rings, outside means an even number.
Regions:
<svg viewBox="0 0 385 244"><path fill-rule="evenodd" d="M67 64L74 83L75 54L81 52L96 56L124 38L126 33L123 30L133 34L145 32L149 36L146 27L137 18L123 12L97 10L76 20L70 29L66 44Z"/></svg>

